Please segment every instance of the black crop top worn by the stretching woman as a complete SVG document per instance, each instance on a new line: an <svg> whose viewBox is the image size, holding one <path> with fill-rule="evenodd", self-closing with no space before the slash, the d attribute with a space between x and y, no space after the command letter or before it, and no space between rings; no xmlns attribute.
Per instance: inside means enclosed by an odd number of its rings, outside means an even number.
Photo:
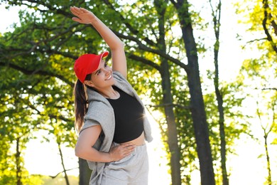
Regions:
<svg viewBox="0 0 277 185"><path fill-rule="evenodd" d="M109 99L114 108L115 130L114 142L123 143L136 139L143 132L143 107L135 97L116 88L120 97L116 100Z"/></svg>

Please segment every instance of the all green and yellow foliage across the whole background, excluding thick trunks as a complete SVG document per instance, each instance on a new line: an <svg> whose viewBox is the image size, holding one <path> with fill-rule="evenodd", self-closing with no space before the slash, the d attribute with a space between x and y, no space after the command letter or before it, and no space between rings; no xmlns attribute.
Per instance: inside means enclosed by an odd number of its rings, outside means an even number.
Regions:
<svg viewBox="0 0 277 185"><path fill-rule="evenodd" d="M2 2L2 1L1 1ZM8 2L8 1L6 1ZM107 1L106 1L107 2ZM156 121L161 127L163 140L168 140L167 123L163 105L161 85L161 58L170 56L183 61L185 44L180 32L180 23L175 7L170 1L159 1L159 8L153 1L9 1L11 6L25 7L20 11L21 25L13 32L0 36L0 134L1 151L0 182L16 181L16 139L20 145L22 181L30 176L23 169L23 151L33 132L40 129L54 134L58 144L73 147L76 141L72 88L75 82L73 63L83 53L99 53L107 50L99 34L89 25L74 23L71 20L70 6L83 6L92 9L104 23L126 43L128 59L128 80L146 102L148 110L158 115ZM271 2L271 1L270 1ZM272 4L271 4L272 5ZM241 6L242 7L242 6ZM272 19L276 16L276 7L270 6ZM161 32L158 21L165 8L164 35L165 52L159 50ZM262 31L260 4L253 6L256 14L251 14L253 26L249 31ZM193 6L184 4L182 11L190 9L192 25L197 29L207 28L206 20L193 10ZM272 19L268 19L268 24ZM249 23L249 20L247 20ZM270 29L273 33L273 29ZM273 37L276 42L276 37ZM242 118L241 105L246 94L242 80L253 80L254 88L271 87L276 79L276 53L268 41L257 40L257 48L263 53L261 58L244 61L241 76L237 83L220 84L224 97L226 115L227 151L234 152L232 144L241 132L248 132L247 122ZM252 46L254 47L254 46ZM204 38L199 38L197 52L207 51ZM161 54L162 53L162 54ZM196 53L195 53L196 54ZM163 56L162 56L163 55ZM178 146L183 183L190 183L190 174L197 169L195 136L190 115L190 95L185 71L179 65L168 60L170 66L170 85L173 95L173 110L178 128ZM247 81L243 82L247 84ZM253 84L253 83L252 83ZM242 92L242 93L241 93ZM276 99L276 94L270 96ZM219 162L219 128L217 105L213 93L204 96L207 121L210 123L210 141L214 165ZM269 106L269 105L268 105ZM275 105L276 106L276 105ZM272 107L271 107L272 108ZM276 109L275 109L276 110ZM154 113L155 112L155 113ZM276 125L276 123L274 123ZM277 132L273 129L273 132ZM45 141L50 138L45 137ZM273 141L276 144L276 139ZM169 151L165 142L165 149ZM169 153L169 152L168 152ZM168 154L169 155L169 154ZM170 156L168 156L169 158ZM218 169L218 168L217 168ZM35 177L32 177L35 178ZM38 177L36 177L38 178ZM35 178L35 179L36 179ZM39 179L39 178L38 178ZM40 184L40 182L37 182Z"/></svg>

